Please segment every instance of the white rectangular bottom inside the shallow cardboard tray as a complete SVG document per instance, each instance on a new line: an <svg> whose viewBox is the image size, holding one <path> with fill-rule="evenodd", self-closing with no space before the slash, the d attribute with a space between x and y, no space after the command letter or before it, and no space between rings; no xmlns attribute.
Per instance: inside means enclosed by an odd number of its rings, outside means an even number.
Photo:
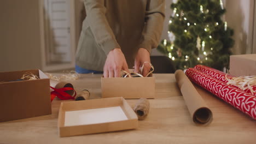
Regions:
<svg viewBox="0 0 256 144"><path fill-rule="evenodd" d="M66 111L65 126L97 124L127 120L120 106L79 111Z"/></svg>

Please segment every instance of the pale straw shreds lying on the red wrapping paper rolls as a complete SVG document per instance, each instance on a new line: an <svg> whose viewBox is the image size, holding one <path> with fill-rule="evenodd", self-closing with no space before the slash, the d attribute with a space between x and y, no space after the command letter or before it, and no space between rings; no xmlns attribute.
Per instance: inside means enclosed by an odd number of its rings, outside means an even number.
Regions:
<svg viewBox="0 0 256 144"><path fill-rule="evenodd" d="M249 89L251 93L254 95L256 91L253 90L253 86L256 85L256 76L239 76L239 77L230 77L228 79L227 75L225 75L226 80L228 81L228 85L237 86L238 88L245 91L245 89Z"/></svg>

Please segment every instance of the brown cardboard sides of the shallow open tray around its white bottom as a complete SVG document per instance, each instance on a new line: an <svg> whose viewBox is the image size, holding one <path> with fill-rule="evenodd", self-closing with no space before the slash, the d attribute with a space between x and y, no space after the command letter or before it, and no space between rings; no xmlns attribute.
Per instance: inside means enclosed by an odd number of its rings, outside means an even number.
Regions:
<svg viewBox="0 0 256 144"><path fill-rule="evenodd" d="M100 109L100 108L115 107L115 106L121 107L121 109L125 113L125 116L127 117L126 120L95 123L95 124L65 126L66 112L92 110L92 109ZM101 115L99 117L101 117ZM78 117L72 117L72 118L75 120ZM102 117L102 119L104 119L104 117ZM138 127L138 117L136 113L131 109L131 106L127 104L126 100L122 97L81 100L81 101L68 101L68 102L61 103L61 106L60 106L58 128L59 128L59 135L61 137L104 133L109 131L118 131L118 130L127 130L127 129L136 129L137 127Z"/></svg>

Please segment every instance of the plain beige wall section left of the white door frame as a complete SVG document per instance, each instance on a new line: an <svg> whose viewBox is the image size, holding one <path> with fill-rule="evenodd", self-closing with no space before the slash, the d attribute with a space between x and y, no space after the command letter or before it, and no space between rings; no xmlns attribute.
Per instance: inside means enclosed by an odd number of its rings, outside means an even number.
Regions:
<svg viewBox="0 0 256 144"><path fill-rule="evenodd" d="M41 67L39 3L0 1L0 71Z"/></svg>

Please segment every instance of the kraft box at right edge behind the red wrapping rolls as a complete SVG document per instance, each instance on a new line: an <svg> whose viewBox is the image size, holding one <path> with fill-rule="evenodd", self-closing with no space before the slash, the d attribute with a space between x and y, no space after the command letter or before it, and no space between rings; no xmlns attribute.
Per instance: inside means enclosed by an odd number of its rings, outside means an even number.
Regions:
<svg viewBox="0 0 256 144"><path fill-rule="evenodd" d="M230 56L230 74L234 76L256 75L256 54Z"/></svg>

